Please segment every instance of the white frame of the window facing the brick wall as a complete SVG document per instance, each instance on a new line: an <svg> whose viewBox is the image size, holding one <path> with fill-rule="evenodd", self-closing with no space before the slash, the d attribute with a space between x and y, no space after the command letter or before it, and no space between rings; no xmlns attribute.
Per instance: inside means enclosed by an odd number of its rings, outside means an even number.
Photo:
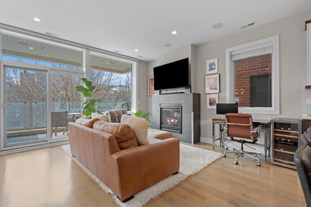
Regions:
<svg viewBox="0 0 311 207"><path fill-rule="evenodd" d="M225 50L226 103L235 103L235 77L232 53L247 52L272 46L272 107L239 107L241 113L280 114L279 112L279 35L242 44ZM259 55L259 54L255 54Z"/></svg>

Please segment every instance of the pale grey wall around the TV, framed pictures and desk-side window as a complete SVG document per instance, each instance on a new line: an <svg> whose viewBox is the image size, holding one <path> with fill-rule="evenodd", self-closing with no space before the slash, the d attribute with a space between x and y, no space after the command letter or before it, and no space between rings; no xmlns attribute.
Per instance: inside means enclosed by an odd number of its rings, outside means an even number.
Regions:
<svg viewBox="0 0 311 207"><path fill-rule="evenodd" d="M195 78L192 77L191 82L196 89L192 92L201 94L201 140L210 140L212 137L211 119L219 115L216 115L214 109L207 110L207 100L204 92L206 60L218 58L221 92L219 102L225 103L225 49L279 35L280 114L253 114L253 118L261 120L270 120L274 117L301 118L303 88L307 83L305 21L310 19L311 10L269 24L249 28L248 30L244 29L242 32L197 46L195 52L193 52L193 49L191 50L193 46L186 49L186 51L185 48L176 49L160 55L156 61L149 62L148 76L153 75L154 66L182 59L184 58L183 55L191 57L191 70L195 70ZM188 51L192 51L191 54ZM195 68L193 65L195 65ZM152 111L152 98L149 97L148 111Z"/></svg>

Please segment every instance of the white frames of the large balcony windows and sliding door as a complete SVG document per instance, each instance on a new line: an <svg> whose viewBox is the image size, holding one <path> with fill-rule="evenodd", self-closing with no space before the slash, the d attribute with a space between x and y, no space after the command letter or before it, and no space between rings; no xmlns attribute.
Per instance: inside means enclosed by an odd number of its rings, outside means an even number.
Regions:
<svg viewBox="0 0 311 207"><path fill-rule="evenodd" d="M34 32L28 32L28 31L23 31L21 29L16 29L8 26L8 28L3 27L0 24L0 48L1 48L1 35L10 35L14 36L17 38L24 38L24 39L29 39L31 41L38 41L38 42L43 42L50 44L52 46L57 46L57 47L62 47L62 48L67 48L67 49L73 49L75 51L82 52L82 70L69 70L69 69L60 69L57 67L53 66L47 66L47 65L38 65L38 64L30 64L30 63L19 63L19 62L14 62L10 60L2 60L1 59L1 52L0 52L0 131L3 132L1 133L1 137L4 135L5 131L4 130L4 96L6 96L6 91L4 91L5 87L4 84L6 83L6 80L4 80L4 71L3 71L3 65L17 65L20 67L26 67L26 68L38 68L41 70L44 70L47 72L47 94L51 94L51 73L65 73L65 74L71 74L71 75L79 75L81 77L86 77L89 78L89 72L90 72L90 51L98 52L101 55L106 55L109 56L111 59L117 59L122 62L128 62L132 64L132 111L128 111L128 113L132 113L133 111L137 111L138 109L138 59L119 55L116 53L108 52L102 49L96 49L96 48L91 48L91 47L86 47L84 45L80 45L77 43L71 43L66 40L61 40L53 37L47 37L46 35L41 35L37 34ZM83 82L81 81L81 84ZM81 98L83 98L81 96ZM47 96L47 131L50 131L51 129L51 124L50 124L50 119L51 119L51 97ZM26 147L29 149L35 149L35 148L40 148L39 145L45 145L45 144L53 144L57 142L67 142L68 137L61 137L59 140L54 140L52 137L48 136L48 142L44 143L32 143L32 144L27 144L23 145L22 147ZM0 139L0 155L3 154L4 150L15 150L15 152L19 151L24 151L25 148L19 148L15 146L4 146L4 140ZM28 149L27 149L28 150Z"/></svg>

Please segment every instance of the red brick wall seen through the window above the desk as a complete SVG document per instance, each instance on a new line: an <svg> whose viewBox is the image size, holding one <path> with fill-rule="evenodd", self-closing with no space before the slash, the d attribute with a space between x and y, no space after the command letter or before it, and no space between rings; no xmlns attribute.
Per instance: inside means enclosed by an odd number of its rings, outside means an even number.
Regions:
<svg viewBox="0 0 311 207"><path fill-rule="evenodd" d="M272 54L259 55L235 61L235 97L239 97L239 107L250 106L249 77L271 74Z"/></svg>

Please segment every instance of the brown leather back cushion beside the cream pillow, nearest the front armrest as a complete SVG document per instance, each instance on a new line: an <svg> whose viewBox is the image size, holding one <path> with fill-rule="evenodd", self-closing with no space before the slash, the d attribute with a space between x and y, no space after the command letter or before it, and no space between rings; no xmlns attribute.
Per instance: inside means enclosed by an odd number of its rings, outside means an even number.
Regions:
<svg viewBox="0 0 311 207"><path fill-rule="evenodd" d="M99 120L94 123L93 128L112 134L120 150L138 146L135 133L129 125Z"/></svg>

